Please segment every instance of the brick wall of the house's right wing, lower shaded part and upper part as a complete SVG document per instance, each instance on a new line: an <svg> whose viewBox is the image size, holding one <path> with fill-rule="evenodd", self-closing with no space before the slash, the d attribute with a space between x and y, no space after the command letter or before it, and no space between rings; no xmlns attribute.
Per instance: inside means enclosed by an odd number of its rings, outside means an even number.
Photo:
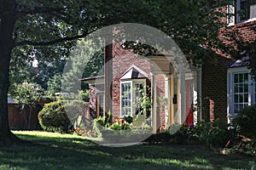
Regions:
<svg viewBox="0 0 256 170"><path fill-rule="evenodd" d="M237 43L229 37L230 33L235 33L237 38L245 42L256 40L256 20L244 22L236 26L230 26L229 30L224 28L220 30L219 37L226 45L236 48ZM221 121L227 121L227 69L232 62L232 57L218 52L217 62L204 60L202 66L202 119L212 121L219 118Z"/></svg>

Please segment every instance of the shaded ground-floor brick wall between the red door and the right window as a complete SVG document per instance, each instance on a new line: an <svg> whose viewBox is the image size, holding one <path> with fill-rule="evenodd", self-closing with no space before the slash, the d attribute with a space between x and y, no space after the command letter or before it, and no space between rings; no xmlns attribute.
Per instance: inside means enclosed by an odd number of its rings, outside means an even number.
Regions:
<svg viewBox="0 0 256 170"><path fill-rule="evenodd" d="M217 63L205 61L201 75L202 119L227 121L227 66L231 59L218 56Z"/></svg>

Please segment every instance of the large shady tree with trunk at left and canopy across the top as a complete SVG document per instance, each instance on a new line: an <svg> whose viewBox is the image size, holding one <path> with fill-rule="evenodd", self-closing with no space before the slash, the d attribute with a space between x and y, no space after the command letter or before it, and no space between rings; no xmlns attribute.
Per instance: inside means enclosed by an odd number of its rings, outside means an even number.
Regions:
<svg viewBox="0 0 256 170"><path fill-rule="evenodd" d="M212 48L219 48L218 29L224 26L220 20L224 14L218 7L225 4L224 0L1 0L0 144L19 142L8 124L10 63L67 56L74 40L119 22L164 31L189 61L198 63Z"/></svg>

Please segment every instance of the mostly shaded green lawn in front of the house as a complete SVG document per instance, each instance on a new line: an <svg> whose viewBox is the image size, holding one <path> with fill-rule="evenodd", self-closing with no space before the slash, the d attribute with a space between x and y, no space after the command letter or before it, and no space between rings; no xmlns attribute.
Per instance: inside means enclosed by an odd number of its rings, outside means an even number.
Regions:
<svg viewBox="0 0 256 170"><path fill-rule="evenodd" d="M0 147L0 169L249 169L255 157L221 155L202 146L100 146L68 134L14 132L28 146Z"/></svg>

